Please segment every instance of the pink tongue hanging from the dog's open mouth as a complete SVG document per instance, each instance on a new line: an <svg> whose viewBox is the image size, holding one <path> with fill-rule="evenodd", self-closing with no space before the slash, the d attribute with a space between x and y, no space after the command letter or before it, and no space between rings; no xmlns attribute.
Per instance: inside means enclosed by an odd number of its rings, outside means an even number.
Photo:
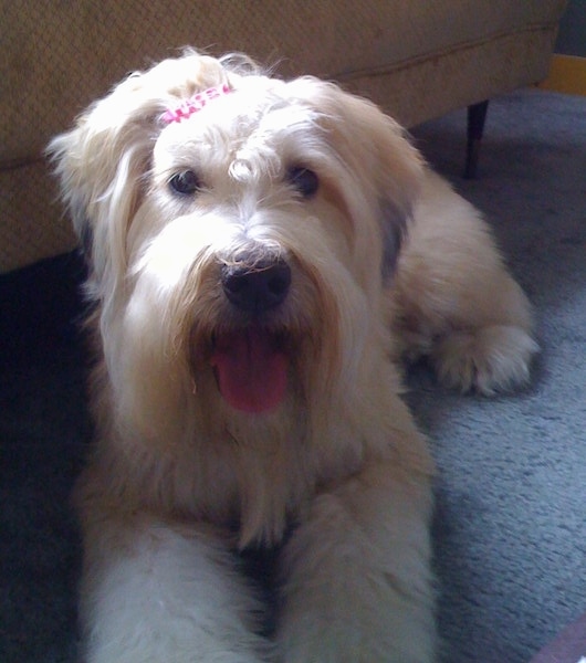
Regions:
<svg viewBox="0 0 586 663"><path fill-rule="evenodd" d="M264 412L284 398L287 358L266 332L250 328L222 336L211 364L221 394L237 410Z"/></svg>

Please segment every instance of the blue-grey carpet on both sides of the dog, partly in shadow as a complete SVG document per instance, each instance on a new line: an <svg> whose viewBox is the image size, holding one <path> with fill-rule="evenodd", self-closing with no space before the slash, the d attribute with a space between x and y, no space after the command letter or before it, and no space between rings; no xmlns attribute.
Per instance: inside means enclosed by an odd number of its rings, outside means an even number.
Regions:
<svg viewBox="0 0 586 663"><path fill-rule="evenodd" d="M586 98L491 102L479 178L460 178L465 113L414 131L485 211L535 305L531 387L438 387L409 401L440 473L435 519L446 663L526 663L586 610ZM75 661L80 544L69 493L91 438L74 256L0 278L0 661ZM586 654L586 652L585 652Z"/></svg>

